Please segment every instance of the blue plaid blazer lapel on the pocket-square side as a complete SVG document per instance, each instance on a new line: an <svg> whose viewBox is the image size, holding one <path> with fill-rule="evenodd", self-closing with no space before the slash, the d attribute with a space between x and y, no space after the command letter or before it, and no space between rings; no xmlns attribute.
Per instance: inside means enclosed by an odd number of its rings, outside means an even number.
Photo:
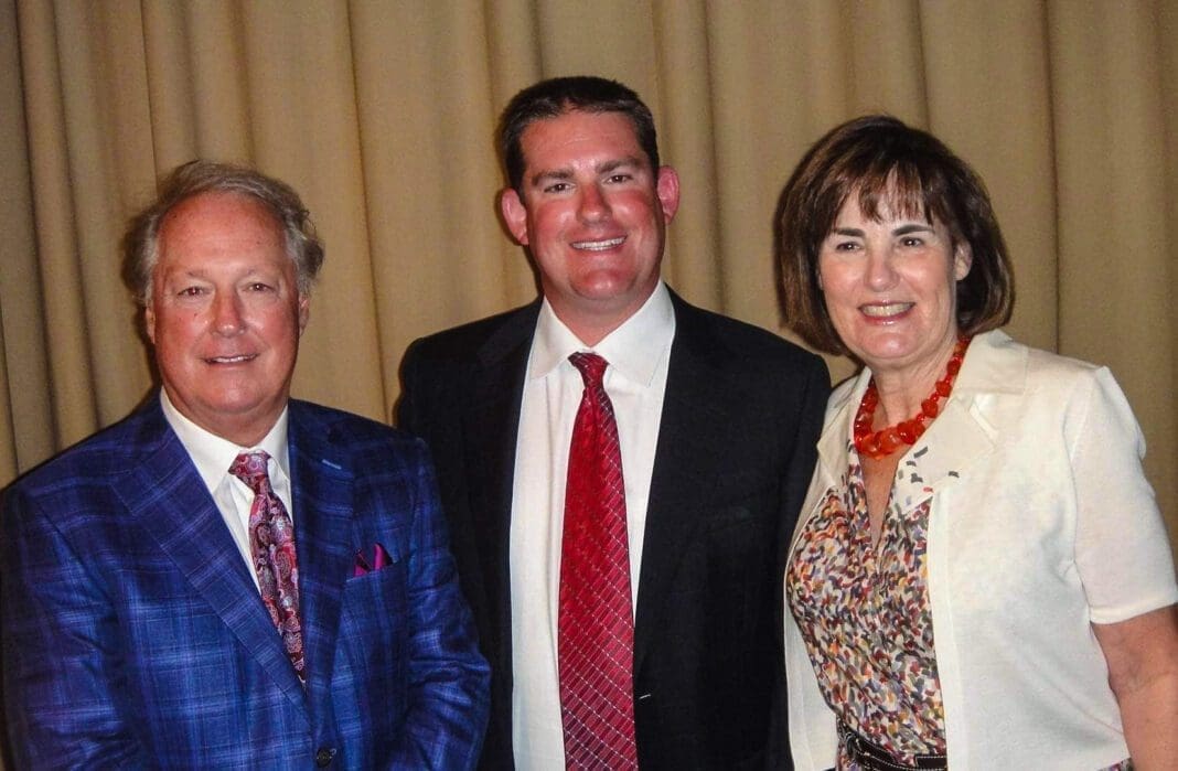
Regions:
<svg viewBox="0 0 1178 771"><path fill-rule="evenodd" d="M290 403L289 441L306 687L313 703L330 703L344 582L356 560L353 476L327 429L296 401Z"/></svg>

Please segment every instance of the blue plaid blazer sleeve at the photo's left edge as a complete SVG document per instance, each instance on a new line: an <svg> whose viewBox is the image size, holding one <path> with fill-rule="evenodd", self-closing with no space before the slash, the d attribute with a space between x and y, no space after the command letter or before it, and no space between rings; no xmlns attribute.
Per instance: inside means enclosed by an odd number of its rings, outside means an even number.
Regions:
<svg viewBox="0 0 1178 771"><path fill-rule="evenodd" d="M126 718L120 686L127 663L102 582L39 501L19 488L5 496L0 539L4 703L14 767L146 767Z"/></svg>

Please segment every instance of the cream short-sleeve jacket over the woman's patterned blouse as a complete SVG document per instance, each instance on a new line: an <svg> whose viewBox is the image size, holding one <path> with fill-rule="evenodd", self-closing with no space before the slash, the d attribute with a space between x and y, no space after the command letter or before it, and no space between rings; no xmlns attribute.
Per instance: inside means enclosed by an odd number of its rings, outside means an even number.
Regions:
<svg viewBox="0 0 1178 771"><path fill-rule="evenodd" d="M830 396L799 531L842 483L871 371ZM974 338L953 394L901 459L893 501L932 497L928 595L949 767L1101 769L1129 756L1091 624L1178 601L1145 443L1107 369L1001 331ZM786 612L789 738L834 765L834 716Z"/></svg>

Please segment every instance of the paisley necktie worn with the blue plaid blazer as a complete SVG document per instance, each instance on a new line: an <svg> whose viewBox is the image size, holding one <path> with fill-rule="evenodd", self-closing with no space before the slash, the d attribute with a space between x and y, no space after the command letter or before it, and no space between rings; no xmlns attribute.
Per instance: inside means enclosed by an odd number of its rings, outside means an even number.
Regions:
<svg viewBox="0 0 1178 771"><path fill-rule="evenodd" d="M241 453L229 472L253 490L250 507L250 556L258 574L262 601L270 611L283 638L286 655L304 683L303 626L298 617L298 560L294 555L294 527L286 507L270 486L263 450Z"/></svg>

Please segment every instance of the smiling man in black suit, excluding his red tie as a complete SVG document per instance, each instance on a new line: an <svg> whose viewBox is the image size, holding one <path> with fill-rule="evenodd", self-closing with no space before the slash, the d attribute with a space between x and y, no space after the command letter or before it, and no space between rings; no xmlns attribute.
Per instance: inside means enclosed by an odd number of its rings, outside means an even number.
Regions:
<svg viewBox="0 0 1178 771"><path fill-rule="evenodd" d="M624 477L630 749L643 769L788 767L781 573L826 367L661 282L679 177L633 91L538 83L499 140L503 218L542 297L415 342L398 408L434 453L494 671L482 765L633 767L567 756L562 730L564 493L587 388L568 357L588 350L608 362Z"/></svg>

